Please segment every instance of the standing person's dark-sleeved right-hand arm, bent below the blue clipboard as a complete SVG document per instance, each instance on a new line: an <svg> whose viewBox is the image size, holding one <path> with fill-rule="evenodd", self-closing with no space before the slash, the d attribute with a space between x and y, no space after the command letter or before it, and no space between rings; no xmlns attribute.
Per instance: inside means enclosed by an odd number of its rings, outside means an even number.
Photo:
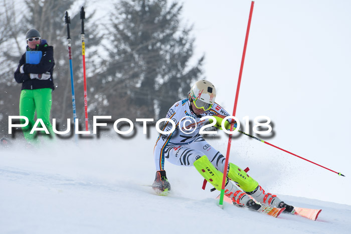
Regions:
<svg viewBox="0 0 351 234"><path fill-rule="evenodd" d="M23 71L25 73L43 74L54 66L54 50L52 47L43 52L42 59L39 64L24 64Z"/></svg>

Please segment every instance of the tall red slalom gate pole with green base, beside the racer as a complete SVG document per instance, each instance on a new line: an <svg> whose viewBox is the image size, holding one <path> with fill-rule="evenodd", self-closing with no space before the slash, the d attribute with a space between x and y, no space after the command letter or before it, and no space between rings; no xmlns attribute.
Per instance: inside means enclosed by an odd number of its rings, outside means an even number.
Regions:
<svg viewBox="0 0 351 234"><path fill-rule="evenodd" d="M236 95L235 95L233 116L235 116L235 112L236 112L236 109L237 109L237 103L238 103L238 97L239 97L239 89L240 89L240 83L241 83L241 76L243 74L245 54L246 54L246 47L247 47L247 41L249 39L249 32L250 32L252 12L254 10L254 3L255 3L254 1L251 2L249 22L247 24L247 30L246 30L246 37L245 37L243 57L241 58L241 66L240 66L240 72L239 72L237 92L236 92ZM234 129L234 120L232 119L232 123L230 125L230 131L233 131L233 129ZM231 146L231 144L232 144L232 134L229 134L226 162L225 162L224 170L223 170L222 189L221 189L221 195L220 195L220 201L219 201L219 204L220 204L221 207L223 206L224 187L226 186L226 180L227 180L227 168L228 168L228 163L229 163L229 153L230 153L230 146Z"/></svg>

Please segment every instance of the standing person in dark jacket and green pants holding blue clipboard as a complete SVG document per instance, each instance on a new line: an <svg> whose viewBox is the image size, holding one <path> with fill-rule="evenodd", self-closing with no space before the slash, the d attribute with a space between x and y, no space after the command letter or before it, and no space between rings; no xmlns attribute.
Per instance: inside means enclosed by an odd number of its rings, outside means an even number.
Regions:
<svg viewBox="0 0 351 234"><path fill-rule="evenodd" d="M39 64L26 62L26 53L21 57L15 72L15 80L22 83L20 96L20 115L26 116L29 124L22 128L25 139L29 143L35 143L35 134L30 134L34 126L34 115L42 119L51 136L54 136L50 123L51 93L55 89L53 82L54 49L46 40L41 39L40 33L31 29L26 33L27 51L41 51L42 57ZM23 123L22 120L21 123ZM39 126L40 127L40 126Z"/></svg>

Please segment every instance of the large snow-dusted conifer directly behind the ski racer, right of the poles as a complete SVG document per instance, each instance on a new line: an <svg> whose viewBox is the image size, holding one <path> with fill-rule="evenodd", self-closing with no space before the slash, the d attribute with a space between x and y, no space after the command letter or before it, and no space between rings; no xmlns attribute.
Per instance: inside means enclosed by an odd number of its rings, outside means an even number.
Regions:
<svg viewBox="0 0 351 234"><path fill-rule="evenodd" d="M128 101L129 116L164 117L186 97L202 75L204 56L190 64L194 51L192 27L182 27L182 5L166 0L120 1L108 25L108 60L100 74L109 109Z"/></svg>

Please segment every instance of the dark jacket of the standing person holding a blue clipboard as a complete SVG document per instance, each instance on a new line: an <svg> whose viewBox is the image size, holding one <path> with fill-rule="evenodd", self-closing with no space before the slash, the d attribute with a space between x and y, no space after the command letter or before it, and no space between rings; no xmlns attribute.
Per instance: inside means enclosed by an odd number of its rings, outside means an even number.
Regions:
<svg viewBox="0 0 351 234"><path fill-rule="evenodd" d="M31 49L27 46L27 51ZM26 53L21 57L20 64L15 72L15 80L17 83L22 83L22 90L24 89L43 89L51 88L55 89L53 81L53 71L54 71L54 48L48 46L46 40L42 40L40 45L37 45L35 51L42 51L42 59L39 64L27 64L26 63ZM25 73L20 73L20 67L23 66L23 71ZM49 72L51 77L48 80L31 79L30 73L33 74L43 74Z"/></svg>

